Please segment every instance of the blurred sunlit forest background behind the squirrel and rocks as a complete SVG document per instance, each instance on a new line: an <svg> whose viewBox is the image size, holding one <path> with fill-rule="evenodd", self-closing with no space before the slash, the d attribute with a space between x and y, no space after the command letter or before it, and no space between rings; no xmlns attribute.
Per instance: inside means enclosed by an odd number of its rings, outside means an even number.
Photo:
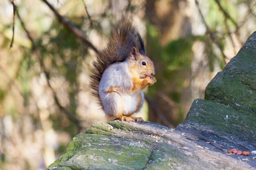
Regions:
<svg viewBox="0 0 256 170"><path fill-rule="evenodd" d="M14 41L13 5L16 5ZM157 83L137 116L175 127L256 30L252 0L46 0L0 2L0 169L45 169L79 132L107 122L90 96L96 49L122 18L139 27ZM30 38L29 38L29 36ZM33 41L33 42L32 42Z"/></svg>

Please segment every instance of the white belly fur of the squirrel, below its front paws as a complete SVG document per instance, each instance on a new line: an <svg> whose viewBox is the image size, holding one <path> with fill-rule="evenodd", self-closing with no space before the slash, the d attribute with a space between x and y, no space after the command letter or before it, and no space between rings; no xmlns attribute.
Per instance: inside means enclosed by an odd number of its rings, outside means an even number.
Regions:
<svg viewBox="0 0 256 170"><path fill-rule="evenodd" d="M137 110L137 105L138 105L138 100L139 97L138 93L140 93L140 91L135 92L135 93L121 93L122 99L123 99L123 106L124 106L124 110L123 110L123 115L128 115L131 112L135 112Z"/></svg>

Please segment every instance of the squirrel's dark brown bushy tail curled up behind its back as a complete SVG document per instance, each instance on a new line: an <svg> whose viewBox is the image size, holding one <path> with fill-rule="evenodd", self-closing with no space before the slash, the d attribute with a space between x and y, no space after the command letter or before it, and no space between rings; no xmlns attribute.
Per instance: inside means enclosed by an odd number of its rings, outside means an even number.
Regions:
<svg viewBox="0 0 256 170"><path fill-rule="evenodd" d="M107 47L97 55L96 60L92 63L90 88L92 95L97 98L101 107L99 82L103 72L110 64L123 62L130 55L132 47L137 48L139 53L145 55L144 42L137 27L128 20L120 22L112 29Z"/></svg>

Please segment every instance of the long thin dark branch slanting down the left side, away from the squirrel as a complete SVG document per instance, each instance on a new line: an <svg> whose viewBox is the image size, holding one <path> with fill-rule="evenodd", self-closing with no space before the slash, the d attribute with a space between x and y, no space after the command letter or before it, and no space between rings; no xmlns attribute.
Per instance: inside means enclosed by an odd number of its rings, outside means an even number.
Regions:
<svg viewBox="0 0 256 170"><path fill-rule="evenodd" d="M38 58L39 62L40 62L40 68L41 70L43 71L43 73L45 73L45 76L46 76L46 79L47 79L47 84L49 86L49 88L52 90L52 93L54 95L54 101L55 103L57 104L58 108L61 110L62 113L64 113L71 121L73 121L77 127L79 128L79 131L83 128L80 120L75 116L73 115L72 113L70 113L69 111L67 111L63 106L61 106L60 102L58 101L58 98L57 98L57 95L56 95L56 92L54 91L54 89L52 88L51 84L50 84L50 77L49 77L49 73L46 71L46 68L45 68L45 65L43 63L43 59L42 59L42 56L40 54L40 51L38 49L38 47L36 46L33 38L31 37L31 34L29 33L29 31L26 29L25 27L25 24L23 22L23 20L20 18L20 15L18 13L18 10L16 10L16 13L17 13L17 16L20 20L20 23L21 23L21 26L22 28L25 30L26 34L27 34L27 37L29 38L29 40L31 41L31 44L32 44L32 50L34 51L34 53L36 54L36 57Z"/></svg>

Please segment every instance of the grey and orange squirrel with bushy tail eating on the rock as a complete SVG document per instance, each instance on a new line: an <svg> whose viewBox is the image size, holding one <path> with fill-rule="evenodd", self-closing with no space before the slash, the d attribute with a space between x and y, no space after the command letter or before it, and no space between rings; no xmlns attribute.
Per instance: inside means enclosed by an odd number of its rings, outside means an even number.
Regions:
<svg viewBox="0 0 256 170"><path fill-rule="evenodd" d="M137 27L125 20L111 30L107 47L93 61L90 88L107 117L143 122L131 115L143 105L142 90L156 82L153 75L154 64Z"/></svg>

